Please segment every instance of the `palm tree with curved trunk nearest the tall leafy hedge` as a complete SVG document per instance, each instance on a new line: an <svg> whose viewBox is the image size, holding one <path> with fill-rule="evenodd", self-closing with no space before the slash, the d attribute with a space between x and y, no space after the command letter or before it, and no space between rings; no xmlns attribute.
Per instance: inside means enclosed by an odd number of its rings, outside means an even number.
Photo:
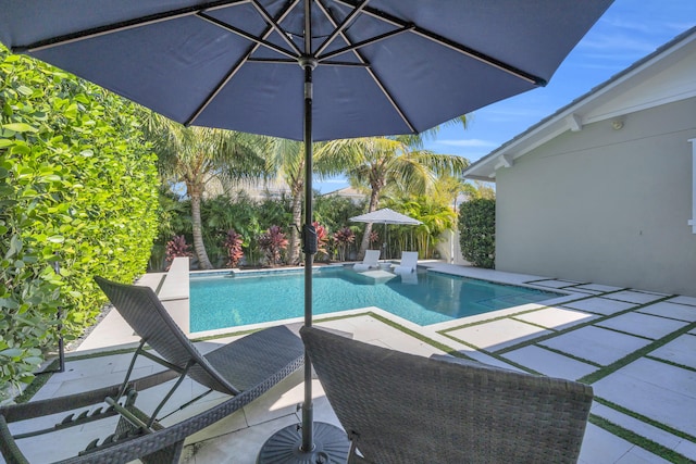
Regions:
<svg viewBox="0 0 696 464"><path fill-rule="evenodd" d="M199 266L212 268L203 244L200 202L207 184L214 177L223 180L259 177L263 160L258 154L258 136L207 127L184 127L154 113L145 118L145 133L159 155L160 174L186 185L191 200L194 251Z"/></svg>

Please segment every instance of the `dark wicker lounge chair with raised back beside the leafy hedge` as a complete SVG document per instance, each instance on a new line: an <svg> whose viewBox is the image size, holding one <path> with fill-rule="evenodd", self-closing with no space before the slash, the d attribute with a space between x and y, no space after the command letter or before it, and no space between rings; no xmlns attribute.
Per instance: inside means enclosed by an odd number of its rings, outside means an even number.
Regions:
<svg viewBox="0 0 696 464"><path fill-rule="evenodd" d="M9 463L28 461L16 443L22 437L13 437L8 423L90 405L99 405L101 410L92 407L84 414L71 415L64 424L40 432L117 415L120 418L114 435L101 442L95 440L79 455L61 463L126 463L136 459L146 464L177 463L186 437L249 404L303 364L301 340L284 326L253 333L202 355L176 326L152 289L115 284L99 277L96 280L142 338L126 378L120 386L0 407L0 451ZM146 350L146 346L152 350ZM140 355L164 365L167 371L145 379L129 379ZM186 376L231 398L192 417L162 427L157 419L158 413ZM174 378L177 380L154 407L154 412L146 414L136 407L137 390ZM148 410L151 410L151 405L148 405ZM29 436L35 435L39 434Z"/></svg>

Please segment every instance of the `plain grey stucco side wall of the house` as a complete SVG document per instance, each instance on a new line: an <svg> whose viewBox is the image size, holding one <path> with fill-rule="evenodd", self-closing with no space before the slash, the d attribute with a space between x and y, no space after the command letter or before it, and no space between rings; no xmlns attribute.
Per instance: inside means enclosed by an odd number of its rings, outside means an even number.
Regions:
<svg viewBox="0 0 696 464"><path fill-rule="evenodd" d="M496 173L496 268L696 296L696 99L567 131Z"/></svg>

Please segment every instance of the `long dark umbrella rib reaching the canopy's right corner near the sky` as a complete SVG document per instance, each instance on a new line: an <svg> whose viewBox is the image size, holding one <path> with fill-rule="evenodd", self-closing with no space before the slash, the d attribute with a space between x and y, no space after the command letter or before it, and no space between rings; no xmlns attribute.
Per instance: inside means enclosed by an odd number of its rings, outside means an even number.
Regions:
<svg viewBox="0 0 696 464"><path fill-rule="evenodd" d="M351 1L348 1L348 0L336 0L336 2L341 3L341 4L346 5L346 7L352 7L352 8L356 7L355 2L351 2ZM370 8L370 7L364 7L362 13L363 14L368 14L368 15L370 15L372 17L377 18L377 20L381 20L381 21L383 21L385 23L391 24L394 26L405 27L405 26L409 25L409 23L407 23L405 21L401 21L396 16L393 16L393 15L390 15L388 13L385 13L385 12L383 12L381 10L376 10L376 9L373 9L373 8ZM423 37L423 38L425 38L427 40L431 40L431 41L439 43L439 45L442 45L444 47L447 47L450 50L457 51L457 52L459 52L461 54L464 54L464 55L467 55L469 58L473 58L474 60L478 60L482 63L488 64L489 66L496 67L496 68L498 68L500 71L504 71L504 72L506 72L508 74L511 74L511 75L513 75L513 76L515 76L515 77L518 77L520 79L526 80L527 83L533 84L535 86L544 87L547 84L547 80L542 78L542 77L539 77L539 76L535 76L534 74L531 74L531 73L527 73L525 71L522 71L517 66L508 64L508 63L506 63L506 62L504 62L501 60L495 59L495 58L493 58L493 57L490 57L490 55L488 55L486 53L480 52L480 51L477 51L475 49L472 49L470 47L467 47L467 46L464 46L462 43L458 43L458 42L455 42L453 40L449 40L446 37L443 37L443 36L438 35L438 34L435 34L435 33L433 33L431 30L427 30L427 29L424 29L422 27L415 26L414 29L413 29L413 34L417 34L417 35L419 35L419 36L421 36L421 37Z"/></svg>

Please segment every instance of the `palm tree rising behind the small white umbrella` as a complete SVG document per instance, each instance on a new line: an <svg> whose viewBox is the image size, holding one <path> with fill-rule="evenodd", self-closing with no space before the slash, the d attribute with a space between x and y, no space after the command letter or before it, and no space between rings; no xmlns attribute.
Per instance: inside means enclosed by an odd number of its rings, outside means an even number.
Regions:
<svg viewBox="0 0 696 464"><path fill-rule="evenodd" d="M330 141L316 151L315 165L323 174L346 173L351 185L368 187L368 212L373 212L387 186L426 195L438 176L459 176L469 166L464 158L421 149L423 138L432 134ZM371 231L372 224L368 224L359 260L370 244Z"/></svg>

